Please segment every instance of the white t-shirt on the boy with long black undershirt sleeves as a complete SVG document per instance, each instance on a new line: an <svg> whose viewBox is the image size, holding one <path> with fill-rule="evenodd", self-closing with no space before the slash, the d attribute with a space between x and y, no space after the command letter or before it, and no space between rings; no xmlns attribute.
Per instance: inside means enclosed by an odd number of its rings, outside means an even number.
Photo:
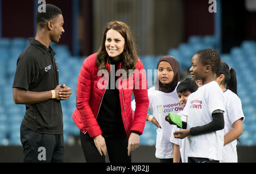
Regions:
<svg viewBox="0 0 256 174"><path fill-rule="evenodd" d="M214 110L225 110L223 92L216 81L201 86L188 97L184 107L184 115L188 116L187 129L196 126L204 126L212 122ZM207 134L187 136L189 148L188 157L222 159L224 144L224 130Z"/></svg>

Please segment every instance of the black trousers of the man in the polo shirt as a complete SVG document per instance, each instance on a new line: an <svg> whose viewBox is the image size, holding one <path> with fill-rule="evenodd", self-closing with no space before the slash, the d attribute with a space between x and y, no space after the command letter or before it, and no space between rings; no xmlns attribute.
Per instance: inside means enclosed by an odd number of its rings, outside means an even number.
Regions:
<svg viewBox="0 0 256 174"><path fill-rule="evenodd" d="M23 146L24 163L64 162L63 134L41 134L22 124L20 126L20 142Z"/></svg>

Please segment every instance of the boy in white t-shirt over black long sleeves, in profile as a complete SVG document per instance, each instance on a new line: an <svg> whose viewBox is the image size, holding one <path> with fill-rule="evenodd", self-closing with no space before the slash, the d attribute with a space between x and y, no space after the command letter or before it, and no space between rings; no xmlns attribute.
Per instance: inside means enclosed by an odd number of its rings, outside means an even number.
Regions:
<svg viewBox="0 0 256 174"><path fill-rule="evenodd" d="M187 128L174 132L175 138L187 137L189 163L219 162L224 144L223 93L215 80L221 59L214 49L203 49L192 57L189 69L193 80L201 79L201 86L188 97L184 115ZM183 127L185 128L185 126Z"/></svg>

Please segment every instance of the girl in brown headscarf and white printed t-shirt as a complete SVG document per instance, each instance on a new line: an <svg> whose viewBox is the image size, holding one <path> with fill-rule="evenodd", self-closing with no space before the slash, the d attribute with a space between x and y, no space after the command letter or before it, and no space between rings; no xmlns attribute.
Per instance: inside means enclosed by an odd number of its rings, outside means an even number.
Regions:
<svg viewBox="0 0 256 174"><path fill-rule="evenodd" d="M179 113L183 110L176 92L176 86L180 78L180 68L178 61L172 56L161 57L157 68L158 78L155 81L155 86L148 89L148 99L150 101L148 110L154 116L148 115L147 121L155 119L159 124L159 126L155 124L158 126L156 130L156 158L163 163L172 163L174 144L170 142L170 137L174 125L170 125L164 119L170 112ZM132 106L135 106L134 101Z"/></svg>

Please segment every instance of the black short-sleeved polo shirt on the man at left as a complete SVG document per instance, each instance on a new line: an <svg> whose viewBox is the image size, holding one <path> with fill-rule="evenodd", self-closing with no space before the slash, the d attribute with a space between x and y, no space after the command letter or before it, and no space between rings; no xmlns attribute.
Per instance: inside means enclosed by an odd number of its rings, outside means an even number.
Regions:
<svg viewBox="0 0 256 174"><path fill-rule="evenodd" d="M13 88L32 92L53 90L59 85L59 70L54 58L56 53L38 40L30 39L30 45L20 54ZM22 124L36 132L63 134L63 116L59 100L47 100L26 105Z"/></svg>

